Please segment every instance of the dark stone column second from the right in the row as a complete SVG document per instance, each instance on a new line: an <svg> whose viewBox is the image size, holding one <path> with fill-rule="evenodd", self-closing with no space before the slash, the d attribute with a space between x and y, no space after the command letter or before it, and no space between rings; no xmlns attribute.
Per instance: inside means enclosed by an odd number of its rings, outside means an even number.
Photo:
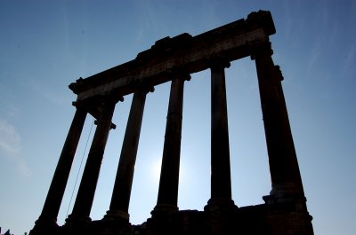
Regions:
<svg viewBox="0 0 356 235"><path fill-rule="evenodd" d="M211 199L209 205L233 206L229 129L224 67L229 61L217 59L211 66Z"/></svg>

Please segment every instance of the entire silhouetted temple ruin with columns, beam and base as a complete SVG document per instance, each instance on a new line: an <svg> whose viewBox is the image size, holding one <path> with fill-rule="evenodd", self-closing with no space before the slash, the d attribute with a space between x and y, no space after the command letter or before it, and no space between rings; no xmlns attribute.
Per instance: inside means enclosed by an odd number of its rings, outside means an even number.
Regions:
<svg viewBox="0 0 356 235"><path fill-rule="evenodd" d="M289 126L279 66L271 58L270 35L275 27L270 12L252 12L201 35L187 33L158 40L136 59L69 85L77 94L77 111L54 172L44 208L31 235L38 234L273 234L312 235L312 216L306 207L302 179ZM271 172L271 192L264 204L241 207L231 199L231 166L225 72L236 59L255 60L263 124ZM211 197L204 211L179 210L178 178L184 82L190 74L211 70ZM151 217L132 225L128 208L134 177L142 114L147 93L171 82L158 200ZM89 217L101 160L113 127L115 106L134 94L106 215ZM152 94L154 95L154 94ZM77 150L85 117L97 121L77 198L66 223L57 216Z"/></svg>

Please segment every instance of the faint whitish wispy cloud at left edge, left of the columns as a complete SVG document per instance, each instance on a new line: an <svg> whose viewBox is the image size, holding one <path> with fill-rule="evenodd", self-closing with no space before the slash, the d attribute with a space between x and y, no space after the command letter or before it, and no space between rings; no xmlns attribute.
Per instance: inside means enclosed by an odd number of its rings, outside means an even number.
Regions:
<svg viewBox="0 0 356 235"><path fill-rule="evenodd" d="M16 128L3 119L0 119L0 153L4 155L19 168L21 174L30 175L30 169L26 161L20 156L21 137Z"/></svg>

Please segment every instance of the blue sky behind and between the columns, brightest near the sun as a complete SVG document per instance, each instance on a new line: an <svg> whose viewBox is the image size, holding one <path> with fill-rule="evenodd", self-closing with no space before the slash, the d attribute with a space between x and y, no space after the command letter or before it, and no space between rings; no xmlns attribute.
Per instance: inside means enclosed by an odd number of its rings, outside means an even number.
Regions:
<svg viewBox="0 0 356 235"><path fill-rule="evenodd" d="M271 11L273 59L285 77L295 149L315 234L356 231L356 2L0 0L0 226L15 235L40 215L75 113L70 82L134 59L158 39L198 35ZM210 195L210 71L184 90L178 206L202 210ZM263 203L271 190L254 61L226 70L232 197ZM169 83L148 94L130 204L132 223L156 205ZM132 96L117 104L92 219L109 209ZM58 223L71 212L93 137L88 116ZM83 165L80 162L84 156ZM72 192L74 197L69 204Z"/></svg>

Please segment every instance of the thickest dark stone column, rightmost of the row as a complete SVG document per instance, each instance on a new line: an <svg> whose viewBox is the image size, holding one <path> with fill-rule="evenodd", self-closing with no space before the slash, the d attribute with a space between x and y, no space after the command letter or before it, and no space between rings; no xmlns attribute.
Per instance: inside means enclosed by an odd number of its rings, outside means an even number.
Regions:
<svg viewBox="0 0 356 235"><path fill-rule="evenodd" d="M296 159L279 67L271 59L271 43L253 47L252 59L258 76L264 131L271 171L271 197L304 198L302 178Z"/></svg>

